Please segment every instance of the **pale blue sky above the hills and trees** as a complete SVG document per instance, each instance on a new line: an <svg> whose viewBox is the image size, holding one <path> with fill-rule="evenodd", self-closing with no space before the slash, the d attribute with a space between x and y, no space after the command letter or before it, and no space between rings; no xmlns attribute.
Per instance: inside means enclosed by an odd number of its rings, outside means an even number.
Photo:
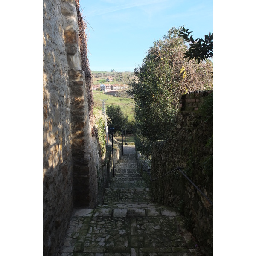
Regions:
<svg viewBox="0 0 256 256"><path fill-rule="evenodd" d="M213 32L213 0L80 0L91 70L134 71L154 39L185 25L196 38Z"/></svg>

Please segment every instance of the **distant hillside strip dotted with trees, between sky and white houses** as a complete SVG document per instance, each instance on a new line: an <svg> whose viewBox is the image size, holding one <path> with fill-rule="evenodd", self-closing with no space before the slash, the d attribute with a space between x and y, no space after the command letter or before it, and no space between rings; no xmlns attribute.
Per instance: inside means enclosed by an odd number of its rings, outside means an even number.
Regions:
<svg viewBox="0 0 256 256"><path fill-rule="evenodd" d="M91 71L93 75L93 85L96 84L128 84L129 79L134 78L134 72L108 72L108 71ZM110 81L107 81L107 78ZM111 81L113 79L113 81Z"/></svg>

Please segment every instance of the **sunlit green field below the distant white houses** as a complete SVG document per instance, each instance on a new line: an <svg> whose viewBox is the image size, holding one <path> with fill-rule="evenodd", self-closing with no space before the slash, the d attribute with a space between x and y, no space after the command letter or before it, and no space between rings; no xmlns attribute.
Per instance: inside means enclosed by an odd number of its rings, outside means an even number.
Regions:
<svg viewBox="0 0 256 256"><path fill-rule="evenodd" d="M93 91L93 99L94 99L94 108L102 109L102 101L106 99L106 106L111 105L119 105L124 112L125 115L128 116L129 121L134 120L134 100L129 98L121 98L112 96L110 94L105 94L99 91Z"/></svg>

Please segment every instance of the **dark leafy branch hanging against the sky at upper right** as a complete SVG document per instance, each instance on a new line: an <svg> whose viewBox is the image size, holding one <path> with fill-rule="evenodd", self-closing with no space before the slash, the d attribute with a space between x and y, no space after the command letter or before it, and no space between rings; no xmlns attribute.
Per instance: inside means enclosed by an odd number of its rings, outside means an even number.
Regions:
<svg viewBox="0 0 256 256"><path fill-rule="evenodd" d="M213 57L213 33L209 32L209 35L204 35L204 39L197 38L194 39L193 35L189 37L189 35L193 31L189 32L189 29L185 29L184 27L180 30L179 36L184 38L184 40L189 44L189 49L184 53L184 58L189 58L195 60L200 63L200 61L204 61L207 58Z"/></svg>

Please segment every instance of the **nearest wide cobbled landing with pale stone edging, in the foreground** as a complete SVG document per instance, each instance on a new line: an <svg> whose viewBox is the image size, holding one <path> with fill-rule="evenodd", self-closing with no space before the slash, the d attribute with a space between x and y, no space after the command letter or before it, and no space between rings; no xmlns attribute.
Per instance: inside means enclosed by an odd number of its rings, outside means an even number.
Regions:
<svg viewBox="0 0 256 256"><path fill-rule="evenodd" d="M201 255L175 210L141 203L113 206L77 210L61 256Z"/></svg>

